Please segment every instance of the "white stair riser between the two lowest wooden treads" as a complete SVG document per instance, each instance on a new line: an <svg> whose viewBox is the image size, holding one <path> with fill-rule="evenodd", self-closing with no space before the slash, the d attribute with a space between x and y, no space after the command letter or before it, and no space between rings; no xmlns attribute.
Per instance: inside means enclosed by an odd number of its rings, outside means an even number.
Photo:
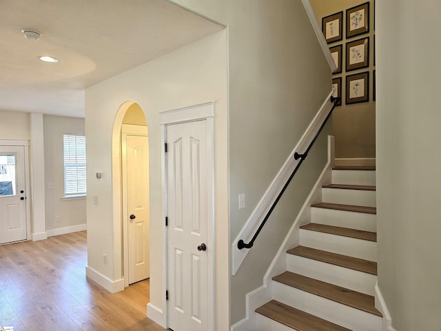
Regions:
<svg viewBox="0 0 441 331"><path fill-rule="evenodd" d="M274 299L322 319L357 331L381 330L382 319L356 308L274 282Z"/></svg>

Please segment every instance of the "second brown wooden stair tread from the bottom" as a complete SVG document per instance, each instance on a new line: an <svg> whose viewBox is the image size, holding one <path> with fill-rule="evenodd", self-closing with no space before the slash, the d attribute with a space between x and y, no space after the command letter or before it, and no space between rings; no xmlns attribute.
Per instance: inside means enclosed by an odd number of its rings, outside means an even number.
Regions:
<svg viewBox="0 0 441 331"><path fill-rule="evenodd" d="M371 295L349 290L348 288L342 288L324 281L318 281L317 279L289 271L285 271L283 274L273 277L273 280L293 288L298 288L298 290L309 292L319 297L382 317L382 314L375 308L375 299Z"/></svg>

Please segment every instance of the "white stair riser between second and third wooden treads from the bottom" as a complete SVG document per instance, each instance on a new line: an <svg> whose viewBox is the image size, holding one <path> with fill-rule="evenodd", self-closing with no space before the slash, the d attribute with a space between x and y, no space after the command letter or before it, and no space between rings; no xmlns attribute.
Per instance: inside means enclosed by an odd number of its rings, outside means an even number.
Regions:
<svg viewBox="0 0 441 331"><path fill-rule="evenodd" d="M303 276L325 281L342 288L375 295L375 274L340 267L330 263L307 259L293 254L287 254L287 270Z"/></svg>

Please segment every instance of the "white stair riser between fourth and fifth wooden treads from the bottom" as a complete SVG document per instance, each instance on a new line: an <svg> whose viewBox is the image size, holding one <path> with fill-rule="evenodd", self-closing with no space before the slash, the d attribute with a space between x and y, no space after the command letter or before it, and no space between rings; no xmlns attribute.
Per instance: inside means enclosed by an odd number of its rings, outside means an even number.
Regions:
<svg viewBox="0 0 441 331"><path fill-rule="evenodd" d="M376 214L367 214L365 212L347 212L346 210L327 208L311 208L311 221L313 223L377 232L376 220Z"/></svg>

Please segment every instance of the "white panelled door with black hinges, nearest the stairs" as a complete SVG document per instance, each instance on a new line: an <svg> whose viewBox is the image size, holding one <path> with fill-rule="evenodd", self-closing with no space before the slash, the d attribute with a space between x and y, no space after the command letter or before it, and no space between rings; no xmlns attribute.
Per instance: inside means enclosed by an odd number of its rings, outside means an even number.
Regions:
<svg viewBox="0 0 441 331"><path fill-rule="evenodd" d="M169 125L166 136L169 328L212 330L213 172L207 121Z"/></svg>

